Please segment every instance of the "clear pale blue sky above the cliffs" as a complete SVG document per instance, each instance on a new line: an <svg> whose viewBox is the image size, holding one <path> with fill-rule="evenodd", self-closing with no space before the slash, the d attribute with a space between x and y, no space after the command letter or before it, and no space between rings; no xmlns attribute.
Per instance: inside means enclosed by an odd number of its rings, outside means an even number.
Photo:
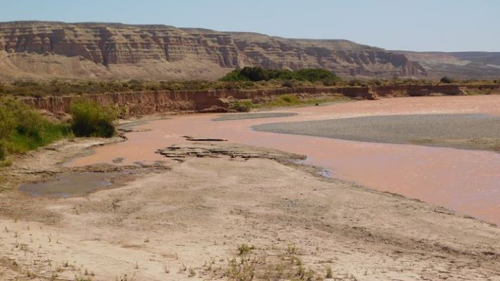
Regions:
<svg viewBox="0 0 500 281"><path fill-rule="evenodd" d="M1 0L0 21L123 22L348 39L412 51L500 51L500 0Z"/></svg>

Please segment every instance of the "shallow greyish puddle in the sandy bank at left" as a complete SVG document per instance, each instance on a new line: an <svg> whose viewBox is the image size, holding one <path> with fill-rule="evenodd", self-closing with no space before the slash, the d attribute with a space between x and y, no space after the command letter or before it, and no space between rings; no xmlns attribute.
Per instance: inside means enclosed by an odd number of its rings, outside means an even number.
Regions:
<svg viewBox="0 0 500 281"><path fill-rule="evenodd" d="M68 174L53 181L25 183L20 186L19 190L33 196L77 197L110 187L113 185L112 178L121 174L120 172Z"/></svg>

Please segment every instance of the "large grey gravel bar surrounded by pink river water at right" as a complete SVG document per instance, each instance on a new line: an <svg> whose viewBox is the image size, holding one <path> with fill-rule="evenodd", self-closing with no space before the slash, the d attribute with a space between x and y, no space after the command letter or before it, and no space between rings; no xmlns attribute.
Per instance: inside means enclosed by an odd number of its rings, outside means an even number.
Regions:
<svg viewBox="0 0 500 281"><path fill-rule="evenodd" d="M500 117L489 115L387 115L276 122L252 128L348 141L500 150Z"/></svg>

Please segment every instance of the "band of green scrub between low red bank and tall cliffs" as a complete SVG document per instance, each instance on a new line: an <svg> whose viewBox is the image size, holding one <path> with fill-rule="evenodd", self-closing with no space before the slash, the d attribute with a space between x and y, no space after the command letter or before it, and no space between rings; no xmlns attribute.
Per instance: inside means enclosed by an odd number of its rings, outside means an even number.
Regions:
<svg viewBox="0 0 500 281"><path fill-rule="evenodd" d="M257 79L262 81L249 81L254 77L240 75L241 70L230 72L222 80L226 81L155 81L155 80L84 80L84 79L53 79L51 81L18 80L11 83L0 82L0 96L67 96L98 93L123 93L127 91L209 91L221 89L277 89L283 86L310 87L310 86L393 86L408 84L436 84L437 81L425 79L339 79L335 74L326 70L264 70L264 75L257 70ZM255 72L255 71L254 71ZM255 73L254 73L255 74ZM243 80L243 81L242 81ZM266 81L267 80L267 81ZM456 84L496 84L495 80L462 80L454 81Z"/></svg>

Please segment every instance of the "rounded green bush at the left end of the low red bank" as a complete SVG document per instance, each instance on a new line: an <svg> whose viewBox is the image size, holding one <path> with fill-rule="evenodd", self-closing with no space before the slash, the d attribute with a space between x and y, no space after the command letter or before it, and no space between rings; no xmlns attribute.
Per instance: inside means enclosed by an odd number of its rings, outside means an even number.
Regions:
<svg viewBox="0 0 500 281"><path fill-rule="evenodd" d="M103 107L95 102L79 102L71 105L72 131L75 136L97 136L110 138L115 136L117 110Z"/></svg>

